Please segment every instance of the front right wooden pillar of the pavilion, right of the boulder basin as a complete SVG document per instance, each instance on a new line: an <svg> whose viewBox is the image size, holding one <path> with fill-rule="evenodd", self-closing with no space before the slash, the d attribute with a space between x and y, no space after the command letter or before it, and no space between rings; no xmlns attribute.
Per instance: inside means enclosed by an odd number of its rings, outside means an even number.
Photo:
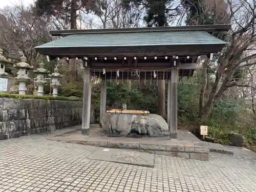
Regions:
<svg viewBox="0 0 256 192"><path fill-rule="evenodd" d="M177 138L178 130L178 69L173 68L170 76L170 138Z"/></svg>

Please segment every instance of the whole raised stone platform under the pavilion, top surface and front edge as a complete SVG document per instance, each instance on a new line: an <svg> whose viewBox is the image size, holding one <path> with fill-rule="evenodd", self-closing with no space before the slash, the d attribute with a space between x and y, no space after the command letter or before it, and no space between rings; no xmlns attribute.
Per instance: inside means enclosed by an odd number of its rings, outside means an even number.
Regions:
<svg viewBox="0 0 256 192"><path fill-rule="evenodd" d="M101 132L98 125L94 125L90 129L90 136L81 135L81 130L75 130L66 134L48 137L47 139L100 147L125 148L135 152L201 161L208 161L210 152L210 146L206 142L200 141L193 134L184 130L178 130L178 138L172 140L169 137L108 137Z"/></svg>

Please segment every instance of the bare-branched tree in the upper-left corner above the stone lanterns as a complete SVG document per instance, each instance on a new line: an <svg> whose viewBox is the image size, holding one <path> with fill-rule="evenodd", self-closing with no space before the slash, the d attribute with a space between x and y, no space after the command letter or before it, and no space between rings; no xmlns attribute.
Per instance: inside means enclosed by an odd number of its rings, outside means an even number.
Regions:
<svg viewBox="0 0 256 192"><path fill-rule="evenodd" d="M35 65L34 47L51 39L49 19L36 17L30 7L19 4L0 10L0 25L0 46L15 59L19 58L18 51L22 51L30 65Z"/></svg>

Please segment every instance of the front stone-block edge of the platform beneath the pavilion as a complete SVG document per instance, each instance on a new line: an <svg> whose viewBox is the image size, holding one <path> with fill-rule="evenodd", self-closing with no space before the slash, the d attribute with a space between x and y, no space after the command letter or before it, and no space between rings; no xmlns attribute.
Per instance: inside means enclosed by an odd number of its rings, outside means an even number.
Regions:
<svg viewBox="0 0 256 192"><path fill-rule="evenodd" d="M118 141L115 139L92 139L90 137L83 137L83 140L77 139L67 139L50 137L49 140L55 140L60 142L77 143L83 145L108 147L108 148L120 148L128 149L136 152L151 153L156 155L165 155L172 157L180 157L186 159L195 159L201 161L209 160L209 147L195 145L193 142L189 141L177 141L169 140L165 142L138 142L136 139L132 141Z"/></svg>

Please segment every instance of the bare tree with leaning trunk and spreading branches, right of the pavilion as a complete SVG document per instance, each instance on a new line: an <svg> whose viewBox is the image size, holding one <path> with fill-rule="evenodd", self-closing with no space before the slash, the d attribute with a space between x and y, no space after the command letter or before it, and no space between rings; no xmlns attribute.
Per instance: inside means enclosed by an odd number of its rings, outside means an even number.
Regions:
<svg viewBox="0 0 256 192"><path fill-rule="evenodd" d="M204 76L207 76L209 68L215 70L214 81L211 86L202 87L201 97L205 92L209 92L207 99L200 98L204 102L200 102L200 115L207 115L211 111L212 104L219 100L225 92L232 87L250 87L251 84L245 83L238 76L241 75L241 70L246 67L254 66L256 64L255 45L256 45L256 3L254 1L227 1L227 13L232 25L230 33L225 38L228 46L217 55L216 62L206 63L203 66ZM217 8L217 7L216 7ZM216 11L218 12L218 11ZM223 17L222 17L223 18ZM207 84L209 82L205 82ZM253 88L254 89L254 88Z"/></svg>

